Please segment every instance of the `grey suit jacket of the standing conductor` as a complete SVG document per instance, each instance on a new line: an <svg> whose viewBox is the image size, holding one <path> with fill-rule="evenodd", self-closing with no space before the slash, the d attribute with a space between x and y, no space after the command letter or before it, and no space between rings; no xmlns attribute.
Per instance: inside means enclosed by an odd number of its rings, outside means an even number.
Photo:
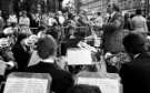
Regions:
<svg viewBox="0 0 150 93"><path fill-rule="evenodd" d="M117 23L120 22L118 25ZM122 24L123 18L120 13L116 13L108 23L103 25L103 46L104 51L120 52L123 50L122 45Z"/></svg>

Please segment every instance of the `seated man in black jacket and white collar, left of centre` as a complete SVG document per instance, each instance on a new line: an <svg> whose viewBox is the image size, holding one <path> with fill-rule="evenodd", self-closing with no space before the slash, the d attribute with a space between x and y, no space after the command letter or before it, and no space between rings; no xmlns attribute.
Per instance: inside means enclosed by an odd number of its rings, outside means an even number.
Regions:
<svg viewBox="0 0 150 93"><path fill-rule="evenodd" d="M57 54L56 40L50 35L39 39L37 51L41 61L36 65L29 66L27 71L33 73L49 73L52 76L51 91L54 93L66 93L67 90L73 85L73 79L71 74L54 64Z"/></svg>

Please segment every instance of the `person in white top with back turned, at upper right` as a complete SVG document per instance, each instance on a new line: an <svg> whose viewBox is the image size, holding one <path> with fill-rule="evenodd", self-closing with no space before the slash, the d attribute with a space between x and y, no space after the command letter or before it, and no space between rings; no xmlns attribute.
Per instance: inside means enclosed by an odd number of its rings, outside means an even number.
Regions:
<svg viewBox="0 0 150 93"><path fill-rule="evenodd" d="M133 23L133 32L140 32L140 33L147 33L148 27L147 27L147 19L142 17L141 10L136 10L136 16L132 18Z"/></svg>

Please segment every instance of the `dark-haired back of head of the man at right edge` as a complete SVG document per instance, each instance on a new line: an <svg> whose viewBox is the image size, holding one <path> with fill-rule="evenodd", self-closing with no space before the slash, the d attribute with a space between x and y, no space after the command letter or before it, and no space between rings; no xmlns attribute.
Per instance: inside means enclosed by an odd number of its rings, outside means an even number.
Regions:
<svg viewBox="0 0 150 93"><path fill-rule="evenodd" d="M123 39L123 45L127 52L132 54L138 54L144 51L143 45L146 44L146 39L143 35L138 33L129 33Z"/></svg>

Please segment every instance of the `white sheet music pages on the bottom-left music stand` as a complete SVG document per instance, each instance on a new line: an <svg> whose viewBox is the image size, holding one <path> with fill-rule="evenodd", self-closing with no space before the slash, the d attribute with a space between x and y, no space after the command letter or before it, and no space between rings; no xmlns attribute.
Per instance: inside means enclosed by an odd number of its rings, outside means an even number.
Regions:
<svg viewBox="0 0 150 93"><path fill-rule="evenodd" d="M9 78L3 93L47 93L48 80Z"/></svg>

